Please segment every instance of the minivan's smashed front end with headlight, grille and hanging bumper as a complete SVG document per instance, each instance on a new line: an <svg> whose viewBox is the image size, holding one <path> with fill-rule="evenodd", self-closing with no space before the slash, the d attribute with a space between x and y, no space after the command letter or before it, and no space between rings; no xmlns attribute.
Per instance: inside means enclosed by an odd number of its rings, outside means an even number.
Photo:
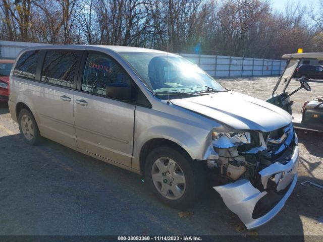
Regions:
<svg viewBox="0 0 323 242"><path fill-rule="evenodd" d="M227 207L248 229L271 220L297 181L298 139L292 123L272 132L213 131L212 147L218 157L208 162L225 181L213 188Z"/></svg>

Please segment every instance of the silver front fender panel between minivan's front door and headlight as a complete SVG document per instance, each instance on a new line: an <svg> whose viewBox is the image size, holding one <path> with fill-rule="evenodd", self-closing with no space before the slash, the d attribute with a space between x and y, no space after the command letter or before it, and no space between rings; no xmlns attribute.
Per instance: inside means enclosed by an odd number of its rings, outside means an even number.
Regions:
<svg viewBox="0 0 323 242"><path fill-rule="evenodd" d="M150 109L151 110L151 109ZM196 120L158 113L154 110L136 109L132 167L140 170L141 148L150 140L161 138L181 146L192 159L206 160L217 156L212 147L212 126ZM218 158L218 157L216 157Z"/></svg>

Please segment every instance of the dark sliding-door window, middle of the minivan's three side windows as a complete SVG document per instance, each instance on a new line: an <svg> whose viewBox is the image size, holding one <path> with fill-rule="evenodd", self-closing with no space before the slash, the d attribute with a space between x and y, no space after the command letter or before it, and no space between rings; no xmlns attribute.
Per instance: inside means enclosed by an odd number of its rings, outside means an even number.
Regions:
<svg viewBox="0 0 323 242"><path fill-rule="evenodd" d="M73 87L76 67L81 51L48 50L41 72L41 81L65 87Z"/></svg>

